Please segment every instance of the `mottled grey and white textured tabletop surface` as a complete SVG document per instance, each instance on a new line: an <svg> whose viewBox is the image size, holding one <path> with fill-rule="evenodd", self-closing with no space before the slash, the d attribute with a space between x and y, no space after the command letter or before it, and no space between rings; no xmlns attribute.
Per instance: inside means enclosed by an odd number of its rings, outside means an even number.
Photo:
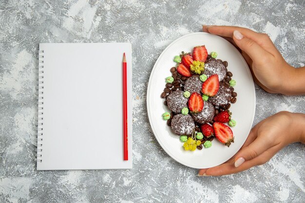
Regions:
<svg viewBox="0 0 305 203"><path fill-rule="evenodd" d="M305 65L304 0L1 0L0 202L305 202L305 146L223 177L197 177L156 142L146 114L152 66L170 42L202 24L266 32L293 66ZM133 44L133 170L40 171L34 162L39 42ZM305 112L304 96L256 86L254 124L282 111Z"/></svg>

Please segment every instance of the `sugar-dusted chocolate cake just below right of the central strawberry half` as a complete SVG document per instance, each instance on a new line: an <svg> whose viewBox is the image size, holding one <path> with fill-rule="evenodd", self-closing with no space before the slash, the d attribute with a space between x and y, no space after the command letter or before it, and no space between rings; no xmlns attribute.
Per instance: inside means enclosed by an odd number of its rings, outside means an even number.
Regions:
<svg viewBox="0 0 305 203"><path fill-rule="evenodd" d="M199 113L192 113L191 117L194 119L197 123L209 123L211 120L213 120L215 112L215 107L208 101L204 102L203 110Z"/></svg>

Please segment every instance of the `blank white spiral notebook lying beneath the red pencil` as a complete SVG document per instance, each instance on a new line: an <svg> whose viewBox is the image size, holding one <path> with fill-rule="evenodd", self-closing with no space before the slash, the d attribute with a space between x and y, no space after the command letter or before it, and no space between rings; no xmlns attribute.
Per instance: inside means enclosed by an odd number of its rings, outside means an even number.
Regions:
<svg viewBox="0 0 305 203"><path fill-rule="evenodd" d="M124 52L128 161L123 161ZM132 168L131 44L41 43L38 67L37 169Z"/></svg>

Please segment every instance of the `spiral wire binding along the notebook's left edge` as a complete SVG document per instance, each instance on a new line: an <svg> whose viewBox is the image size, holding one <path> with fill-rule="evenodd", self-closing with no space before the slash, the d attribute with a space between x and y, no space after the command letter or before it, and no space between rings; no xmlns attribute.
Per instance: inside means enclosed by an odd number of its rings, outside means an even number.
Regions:
<svg viewBox="0 0 305 203"><path fill-rule="evenodd" d="M36 125L36 144L37 147L35 149L35 161L42 162L42 137L43 137L43 59L44 59L44 51L38 51L38 86L36 89L38 90L37 96L37 121Z"/></svg>

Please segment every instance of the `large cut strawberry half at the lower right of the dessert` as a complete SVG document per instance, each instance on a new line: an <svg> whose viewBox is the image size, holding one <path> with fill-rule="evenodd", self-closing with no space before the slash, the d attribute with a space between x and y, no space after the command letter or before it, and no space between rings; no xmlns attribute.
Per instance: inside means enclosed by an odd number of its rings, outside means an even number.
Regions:
<svg viewBox="0 0 305 203"><path fill-rule="evenodd" d="M233 132L229 128L229 126L227 126L223 123L215 122L213 124L213 128L214 128L214 131L215 131L215 137L221 143L225 143L229 147L230 144L232 142L234 142Z"/></svg>

